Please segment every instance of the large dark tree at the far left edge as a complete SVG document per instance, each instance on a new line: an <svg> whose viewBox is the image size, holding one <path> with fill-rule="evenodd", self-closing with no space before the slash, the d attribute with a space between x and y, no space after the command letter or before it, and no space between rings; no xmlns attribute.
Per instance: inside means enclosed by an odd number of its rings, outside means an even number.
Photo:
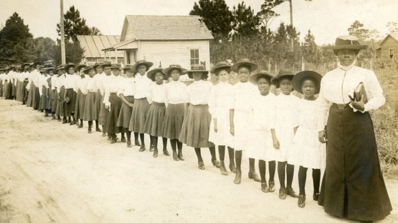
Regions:
<svg viewBox="0 0 398 223"><path fill-rule="evenodd" d="M0 31L0 64L12 65L31 61L33 44L29 26L14 12Z"/></svg>

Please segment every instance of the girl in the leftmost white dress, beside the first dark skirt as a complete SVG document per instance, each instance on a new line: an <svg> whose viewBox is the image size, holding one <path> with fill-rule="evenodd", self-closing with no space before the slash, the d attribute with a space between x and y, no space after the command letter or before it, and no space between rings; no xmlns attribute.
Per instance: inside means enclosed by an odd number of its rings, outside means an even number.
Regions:
<svg viewBox="0 0 398 223"><path fill-rule="evenodd" d="M231 65L227 62L218 62L211 73L218 78L217 85L213 86L209 97L209 112L212 117L210 123L209 141L218 145L218 154L220 157L220 171L222 175L228 175L225 167L225 147L228 147L230 158L229 168L236 173L235 150L232 144L233 136L230 133L230 109L233 106L233 97L231 95L232 85L228 82Z"/></svg>

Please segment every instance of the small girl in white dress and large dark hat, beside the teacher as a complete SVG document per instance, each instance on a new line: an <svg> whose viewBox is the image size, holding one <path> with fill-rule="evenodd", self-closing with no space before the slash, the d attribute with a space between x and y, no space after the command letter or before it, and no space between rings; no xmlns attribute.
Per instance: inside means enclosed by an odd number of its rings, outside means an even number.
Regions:
<svg viewBox="0 0 398 223"><path fill-rule="evenodd" d="M326 145L318 140L317 129L317 98L322 76L315 71L302 71L297 73L292 80L294 90L304 94L299 103L299 128L297 129L288 154L290 164L300 165L299 169L299 201L297 205L305 207L305 184L307 169L312 169L314 184L313 200L319 197L320 169L325 168Z"/></svg>

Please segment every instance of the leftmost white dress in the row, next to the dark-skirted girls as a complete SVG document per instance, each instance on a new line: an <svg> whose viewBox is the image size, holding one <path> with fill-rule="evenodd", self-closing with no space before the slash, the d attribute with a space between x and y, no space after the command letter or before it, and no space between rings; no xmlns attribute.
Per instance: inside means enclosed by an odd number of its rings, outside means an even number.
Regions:
<svg viewBox="0 0 398 223"><path fill-rule="evenodd" d="M211 115L209 141L219 146L233 146L230 133L230 109L233 108L233 86L228 82L219 82L210 91L209 112ZM217 119L217 132L214 131L214 119Z"/></svg>

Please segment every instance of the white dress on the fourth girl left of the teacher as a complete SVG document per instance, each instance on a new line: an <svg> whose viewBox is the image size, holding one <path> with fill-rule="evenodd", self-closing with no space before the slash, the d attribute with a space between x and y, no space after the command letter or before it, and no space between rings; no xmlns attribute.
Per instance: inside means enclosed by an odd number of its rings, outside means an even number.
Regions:
<svg viewBox="0 0 398 223"><path fill-rule="evenodd" d="M258 94L258 89L251 82L238 82L233 86L234 99L234 148L237 151L247 150L250 146L250 129L252 125L253 97Z"/></svg>

